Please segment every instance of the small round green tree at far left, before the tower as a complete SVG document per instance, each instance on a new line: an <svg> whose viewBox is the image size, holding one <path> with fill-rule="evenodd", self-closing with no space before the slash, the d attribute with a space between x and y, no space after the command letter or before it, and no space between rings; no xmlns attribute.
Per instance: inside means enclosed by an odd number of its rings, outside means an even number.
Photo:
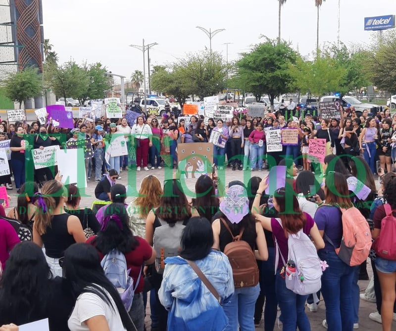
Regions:
<svg viewBox="0 0 396 331"><path fill-rule="evenodd" d="M11 73L3 83L5 95L11 100L18 101L19 109L22 102L43 92L43 78L35 68Z"/></svg>

